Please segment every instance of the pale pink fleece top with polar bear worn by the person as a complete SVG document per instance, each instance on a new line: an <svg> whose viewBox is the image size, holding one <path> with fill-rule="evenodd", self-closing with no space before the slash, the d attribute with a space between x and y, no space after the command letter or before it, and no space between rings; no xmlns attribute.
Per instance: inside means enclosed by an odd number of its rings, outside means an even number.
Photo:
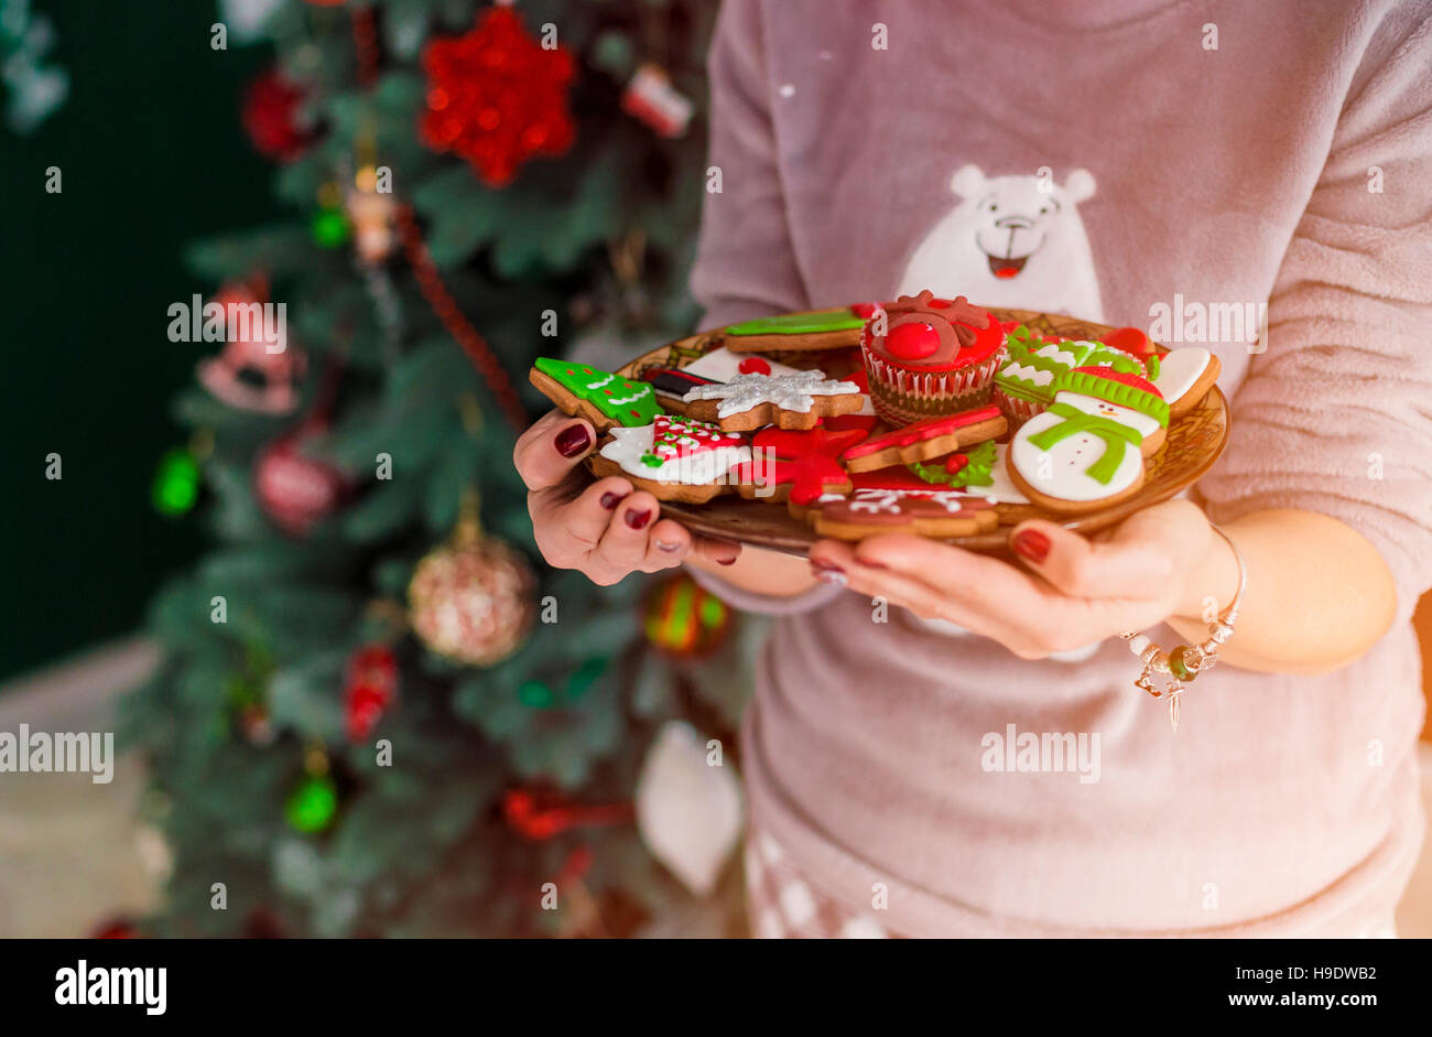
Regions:
<svg viewBox="0 0 1432 1037"><path fill-rule="evenodd" d="M851 592L726 587L780 616L743 735L755 825L852 905L886 889L908 935L1389 915L1422 839L1432 6L736 0L710 73L707 327L931 288L1204 345L1233 431L1194 498L1333 516L1399 589L1356 663L1219 667L1174 733L1117 639L1022 662Z"/></svg>

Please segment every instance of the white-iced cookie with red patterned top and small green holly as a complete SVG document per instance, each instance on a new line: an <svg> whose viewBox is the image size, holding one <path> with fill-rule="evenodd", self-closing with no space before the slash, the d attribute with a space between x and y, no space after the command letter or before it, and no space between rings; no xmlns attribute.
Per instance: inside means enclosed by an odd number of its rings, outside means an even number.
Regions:
<svg viewBox="0 0 1432 1037"><path fill-rule="evenodd" d="M626 476L657 500L705 504L726 488L732 468L749 463L745 435L709 421L659 414L650 425L613 428L591 470L599 477Z"/></svg>

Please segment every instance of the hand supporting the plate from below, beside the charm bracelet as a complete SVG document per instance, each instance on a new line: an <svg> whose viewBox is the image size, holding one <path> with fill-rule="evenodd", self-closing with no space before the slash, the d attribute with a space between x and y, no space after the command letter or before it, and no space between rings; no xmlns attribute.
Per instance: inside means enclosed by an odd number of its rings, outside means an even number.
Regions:
<svg viewBox="0 0 1432 1037"><path fill-rule="evenodd" d="M856 544L821 540L811 564L822 580L1042 659L1170 616L1197 617L1211 540L1203 511L1171 500L1093 540L1051 521L1021 523L1010 547L1022 567L899 533Z"/></svg>

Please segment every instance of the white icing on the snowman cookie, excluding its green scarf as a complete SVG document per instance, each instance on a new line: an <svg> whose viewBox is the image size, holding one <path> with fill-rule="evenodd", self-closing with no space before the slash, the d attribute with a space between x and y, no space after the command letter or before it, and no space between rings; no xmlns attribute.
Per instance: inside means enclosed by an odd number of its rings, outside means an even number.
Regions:
<svg viewBox="0 0 1432 1037"><path fill-rule="evenodd" d="M1080 395L1078 392L1060 392L1054 397L1057 404L1068 404L1085 414L1097 414L1121 425L1127 425L1143 435L1153 435L1163 425L1157 418L1151 418L1130 407L1118 407L1097 397ZM1124 450L1124 457L1114 471L1114 477L1106 484L1090 478L1085 470L1094 464L1108 445L1093 433L1075 433L1065 435L1050 450L1040 450L1030 437L1042 433L1045 428L1063 423L1058 414L1044 411L1020 427L1010 443L1010 464L1015 467L1025 483L1040 493L1068 501L1091 501L1113 497L1123 493L1138 481L1144 470L1144 455L1138 447L1130 445ZM1047 460L1047 470L1040 471L1041 458Z"/></svg>

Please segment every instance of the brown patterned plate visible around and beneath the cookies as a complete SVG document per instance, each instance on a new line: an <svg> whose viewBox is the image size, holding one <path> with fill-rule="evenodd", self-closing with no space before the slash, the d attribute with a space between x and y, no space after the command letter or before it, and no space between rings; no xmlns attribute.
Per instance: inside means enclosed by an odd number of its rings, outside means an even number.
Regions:
<svg viewBox="0 0 1432 1037"><path fill-rule="evenodd" d="M1100 339L1113 328L1106 324L1091 324L1060 314L1040 314L1031 309L990 308L1001 321L1018 321L1032 329L1060 338ZM617 374L626 378L637 377L649 367L686 367L697 357L725 345L720 331L706 331L677 339L637 357ZM775 352L760 355L780 361L789 367L821 367L832 377L842 377L859 365L853 351L823 352ZM1158 504L1177 496L1196 483L1213 467L1229 440L1229 404L1223 392L1214 387L1203 402L1169 425L1164 445L1147 461L1144 484L1138 493L1118 504L1100 511L1067 516L1063 523L1071 530L1094 533L1113 526L1151 504ZM1060 521L1042 508L1031 504L995 504L1001 526L1012 526L1030 517L1045 517ZM756 547L769 547L786 554L805 556L819 537L803 521L792 518L785 504L770 504L760 500L745 500L735 493L722 494L709 504L680 504L662 501L662 514L680 521L692 533L703 533L726 540L737 540ZM1008 533L1004 529L957 537L948 543L977 551L1002 551Z"/></svg>

